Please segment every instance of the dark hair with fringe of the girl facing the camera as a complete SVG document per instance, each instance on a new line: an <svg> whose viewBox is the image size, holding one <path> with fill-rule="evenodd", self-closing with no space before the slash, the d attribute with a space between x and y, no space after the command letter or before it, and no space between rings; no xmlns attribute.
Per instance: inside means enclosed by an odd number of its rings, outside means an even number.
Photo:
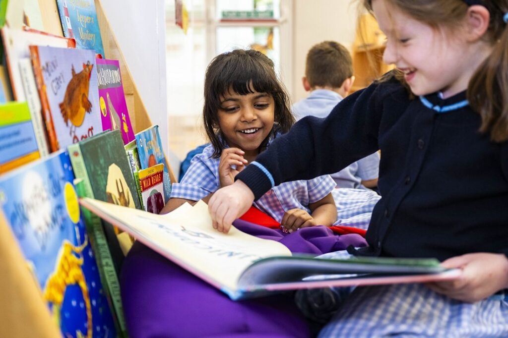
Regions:
<svg viewBox="0 0 508 338"><path fill-rule="evenodd" d="M204 86L203 123L208 139L213 145L213 157L220 157L225 148L221 142L221 139L224 140L224 134L218 127L217 113L221 107L220 97L230 90L239 95L259 92L273 97L275 123L260 149L266 146L268 139L276 131L288 132L295 123L289 96L284 85L278 80L270 58L253 49L236 49L219 54L206 69Z"/></svg>

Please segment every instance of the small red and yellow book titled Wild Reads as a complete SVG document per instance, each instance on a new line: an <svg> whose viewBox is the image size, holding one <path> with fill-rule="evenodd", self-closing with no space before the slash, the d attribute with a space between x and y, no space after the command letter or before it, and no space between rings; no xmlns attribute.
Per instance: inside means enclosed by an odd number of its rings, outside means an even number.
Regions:
<svg viewBox="0 0 508 338"><path fill-rule="evenodd" d="M164 208L164 164L156 164L138 172L143 208L158 214Z"/></svg>

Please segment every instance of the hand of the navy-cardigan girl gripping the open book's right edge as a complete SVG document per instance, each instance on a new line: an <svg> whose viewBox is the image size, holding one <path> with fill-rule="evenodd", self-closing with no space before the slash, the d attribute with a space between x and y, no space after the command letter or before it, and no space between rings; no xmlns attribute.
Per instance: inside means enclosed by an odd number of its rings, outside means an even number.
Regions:
<svg viewBox="0 0 508 338"><path fill-rule="evenodd" d="M441 265L461 268L462 276L453 281L428 283L427 286L451 298L475 302L508 287L508 259L502 254L466 254L447 259Z"/></svg>

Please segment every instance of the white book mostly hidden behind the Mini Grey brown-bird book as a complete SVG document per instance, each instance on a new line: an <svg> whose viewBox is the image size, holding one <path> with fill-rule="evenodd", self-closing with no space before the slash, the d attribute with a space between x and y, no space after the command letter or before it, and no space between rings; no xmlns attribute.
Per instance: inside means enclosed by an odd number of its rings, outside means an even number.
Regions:
<svg viewBox="0 0 508 338"><path fill-rule="evenodd" d="M7 71L11 80L14 99L24 101L25 94L21 75L19 74L18 60L30 57L29 45L69 47L76 46L75 41L62 37L55 37L36 30L12 29L8 26L2 28L2 42L4 44Z"/></svg>

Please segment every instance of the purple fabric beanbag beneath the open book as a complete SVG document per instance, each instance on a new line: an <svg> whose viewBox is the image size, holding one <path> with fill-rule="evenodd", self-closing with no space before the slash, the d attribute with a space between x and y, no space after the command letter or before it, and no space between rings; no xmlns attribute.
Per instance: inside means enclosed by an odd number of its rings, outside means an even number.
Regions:
<svg viewBox="0 0 508 338"><path fill-rule="evenodd" d="M244 232L280 241L292 252L319 255L348 245L366 245L360 235L337 236L322 226L285 235L245 221L234 224ZM125 320L133 338L309 336L292 293L232 301L139 242L125 258L120 285Z"/></svg>

